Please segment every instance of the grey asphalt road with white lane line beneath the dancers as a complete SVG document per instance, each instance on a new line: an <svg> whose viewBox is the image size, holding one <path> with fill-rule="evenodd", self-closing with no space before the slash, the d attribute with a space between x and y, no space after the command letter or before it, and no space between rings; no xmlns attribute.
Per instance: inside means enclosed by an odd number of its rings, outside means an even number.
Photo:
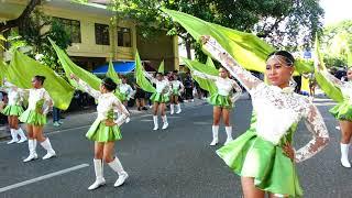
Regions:
<svg viewBox="0 0 352 198"><path fill-rule="evenodd" d="M337 121L327 112L329 100L317 102L327 122L331 142L315 157L298 164L305 197L352 197L352 169L339 163L340 133ZM232 113L233 136L249 127L250 100L237 102ZM216 155L220 147L210 147L212 108L188 105L182 114L168 116L169 128L152 131L151 114L134 116L122 127L123 140L117 142L117 155L130 177L118 188L118 177L105 165L107 185L88 191L95 180L92 142L85 133L96 114L68 116L64 125L48 138L58 157L22 163L28 156L26 144L7 145L0 142L0 197L123 197L123 198L222 198L241 197L240 177ZM307 143L311 134L301 123L295 138L296 148ZM220 142L226 140L220 127ZM38 145L40 156L45 151Z"/></svg>

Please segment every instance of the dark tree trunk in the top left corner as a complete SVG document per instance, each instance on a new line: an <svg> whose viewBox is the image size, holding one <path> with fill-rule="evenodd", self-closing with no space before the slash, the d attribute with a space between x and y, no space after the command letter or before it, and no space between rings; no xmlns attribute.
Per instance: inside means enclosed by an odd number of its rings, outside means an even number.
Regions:
<svg viewBox="0 0 352 198"><path fill-rule="evenodd" d="M40 3L41 0L31 0L18 19L7 21L6 23L0 23L0 32L3 32L8 29L20 26L21 23L29 18L29 15L32 13L35 7Z"/></svg>

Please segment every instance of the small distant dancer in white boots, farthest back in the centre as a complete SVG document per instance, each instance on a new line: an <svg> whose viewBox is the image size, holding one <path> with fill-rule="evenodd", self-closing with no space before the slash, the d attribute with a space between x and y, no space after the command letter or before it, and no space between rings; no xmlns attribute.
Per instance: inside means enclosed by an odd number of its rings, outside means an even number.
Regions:
<svg viewBox="0 0 352 198"><path fill-rule="evenodd" d="M169 81L172 85L172 95L170 95L170 105L169 105L170 112L169 113L174 114L175 106L176 106L176 108L177 108L176 114L178 114L182 112L178 97L182 95L182 92L184 92L185 87L182 81L179 81L179 80L177 80L177 78L175 78L174 75L169 77Z"/></svg>

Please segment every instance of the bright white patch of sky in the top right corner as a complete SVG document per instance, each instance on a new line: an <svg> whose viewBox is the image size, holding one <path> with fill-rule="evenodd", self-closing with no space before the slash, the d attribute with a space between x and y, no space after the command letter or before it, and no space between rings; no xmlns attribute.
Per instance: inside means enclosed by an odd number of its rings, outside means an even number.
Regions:
<svg viewBox="0 0 352 198"><path fill-rule="evenodd" d="M320 0L320 4L326 12L324 25L352 20L352 0Z"/></svg>

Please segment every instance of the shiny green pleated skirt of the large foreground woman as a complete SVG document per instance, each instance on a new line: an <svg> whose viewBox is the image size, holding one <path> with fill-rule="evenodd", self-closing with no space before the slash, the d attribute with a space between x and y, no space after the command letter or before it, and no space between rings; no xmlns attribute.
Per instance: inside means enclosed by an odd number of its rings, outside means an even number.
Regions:
<svg viewBox="0 0 352 198"><path fill-rule="evenodd" d="M253 177L256 188L272 194L302 197L295 164L280 146L258 138L249 130L217 151L238 175Z"/></svg>

